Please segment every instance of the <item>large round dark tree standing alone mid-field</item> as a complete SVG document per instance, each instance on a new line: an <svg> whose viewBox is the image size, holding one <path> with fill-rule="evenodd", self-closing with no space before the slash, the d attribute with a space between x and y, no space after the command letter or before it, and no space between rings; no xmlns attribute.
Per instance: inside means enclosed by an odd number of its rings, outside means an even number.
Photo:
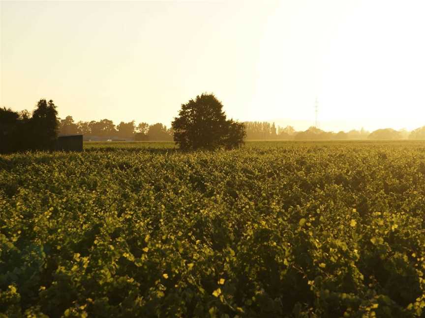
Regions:
<svg viewBox="0 0 425 318"><path fill-rule="evenodd" d="M213 94L202 94L182 104L172 125L174 141L183 150L235 148L243 144L242 123L227 120L223 105Z"/></svg>

